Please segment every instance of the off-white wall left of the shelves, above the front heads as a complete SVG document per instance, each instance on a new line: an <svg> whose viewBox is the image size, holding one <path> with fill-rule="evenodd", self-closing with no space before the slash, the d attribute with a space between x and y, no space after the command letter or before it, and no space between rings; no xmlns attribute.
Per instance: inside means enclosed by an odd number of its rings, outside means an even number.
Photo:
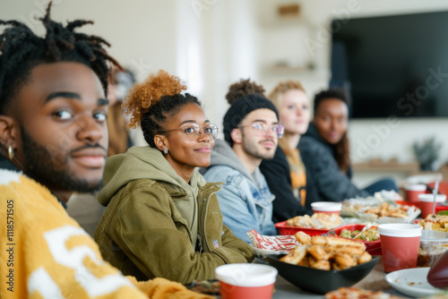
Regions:
<svg viewBox="0 0 448 299"><path fill-rule="evenodd" d="M0 19L44 32L35 17L47 0L2 0ZM228 85L257 76L256 0L54 0L56 21L95 21L80 29L110 42L109 53L139 81L164 69L185 80L209 118L221 124Z"/></svg>

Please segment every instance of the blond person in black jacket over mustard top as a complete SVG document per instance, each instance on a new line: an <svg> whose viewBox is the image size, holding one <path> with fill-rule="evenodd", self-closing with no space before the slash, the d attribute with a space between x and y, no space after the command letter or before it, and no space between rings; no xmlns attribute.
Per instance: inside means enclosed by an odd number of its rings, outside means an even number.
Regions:
<svg viewBox="0 0 448 299"><path fill-rule="evenodd" d="M272 219L280 222L300 215L311 215L313 211L310 206L306 208L306 167L297 149L298 141L309 124L309 100L297 81L280 82L268 98L279 109L280 124L285 128L274 158L263 160L260 165L276 197Z"/></svg>

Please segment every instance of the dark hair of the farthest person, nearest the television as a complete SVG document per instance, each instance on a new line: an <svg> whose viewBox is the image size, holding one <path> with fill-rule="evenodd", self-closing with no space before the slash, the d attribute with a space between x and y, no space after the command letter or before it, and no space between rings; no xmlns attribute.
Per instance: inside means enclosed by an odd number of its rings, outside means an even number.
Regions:
<svg viewBox="0 0 448 299"><path fill-rule="evenodd" d="M323 90L314 96L314 115L319 108L319 105L328 98L338 98L349 106L349 94L345 90L330 89ZM333 152L335 153L335 159L338 163L340 171L346 173L350 167L350 145L347 132L344 133L340 141L336 144L332 144Z"/></svg>

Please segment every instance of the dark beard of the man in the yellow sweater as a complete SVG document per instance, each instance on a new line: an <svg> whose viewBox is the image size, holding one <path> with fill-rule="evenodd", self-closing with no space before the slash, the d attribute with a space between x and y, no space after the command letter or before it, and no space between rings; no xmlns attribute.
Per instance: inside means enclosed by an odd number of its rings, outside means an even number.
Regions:
<svg viewBox="0 0 448 299"><path fill-rule="evenodd" d="M42 146L34 141L21 127L22 147L25 156L24 173L30 178L43 184L50 190L64 190L70 192L97 192L101 189L102 180L91 183L73 174L68 167L68 157L72 151L58 149L53 153L49 146ZM99 147L84 146L88 147Z"/></svg>

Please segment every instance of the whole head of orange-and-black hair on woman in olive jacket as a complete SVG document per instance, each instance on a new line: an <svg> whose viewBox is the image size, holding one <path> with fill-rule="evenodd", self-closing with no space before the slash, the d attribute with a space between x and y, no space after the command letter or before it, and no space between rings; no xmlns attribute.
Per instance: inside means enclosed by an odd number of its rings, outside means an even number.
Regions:
<svg viewBox="0 0 448 299"><path fill-rule="evenodd" d="M134 86L125 97L122 107L126 115L132 115L129 128L142 127L143 137L151 148L156 148L154 136L165 132L168 118L176 115L186 104L201 102L186 90L185 84L175 75L160 70L151 74L146 81Z"/></svg>

